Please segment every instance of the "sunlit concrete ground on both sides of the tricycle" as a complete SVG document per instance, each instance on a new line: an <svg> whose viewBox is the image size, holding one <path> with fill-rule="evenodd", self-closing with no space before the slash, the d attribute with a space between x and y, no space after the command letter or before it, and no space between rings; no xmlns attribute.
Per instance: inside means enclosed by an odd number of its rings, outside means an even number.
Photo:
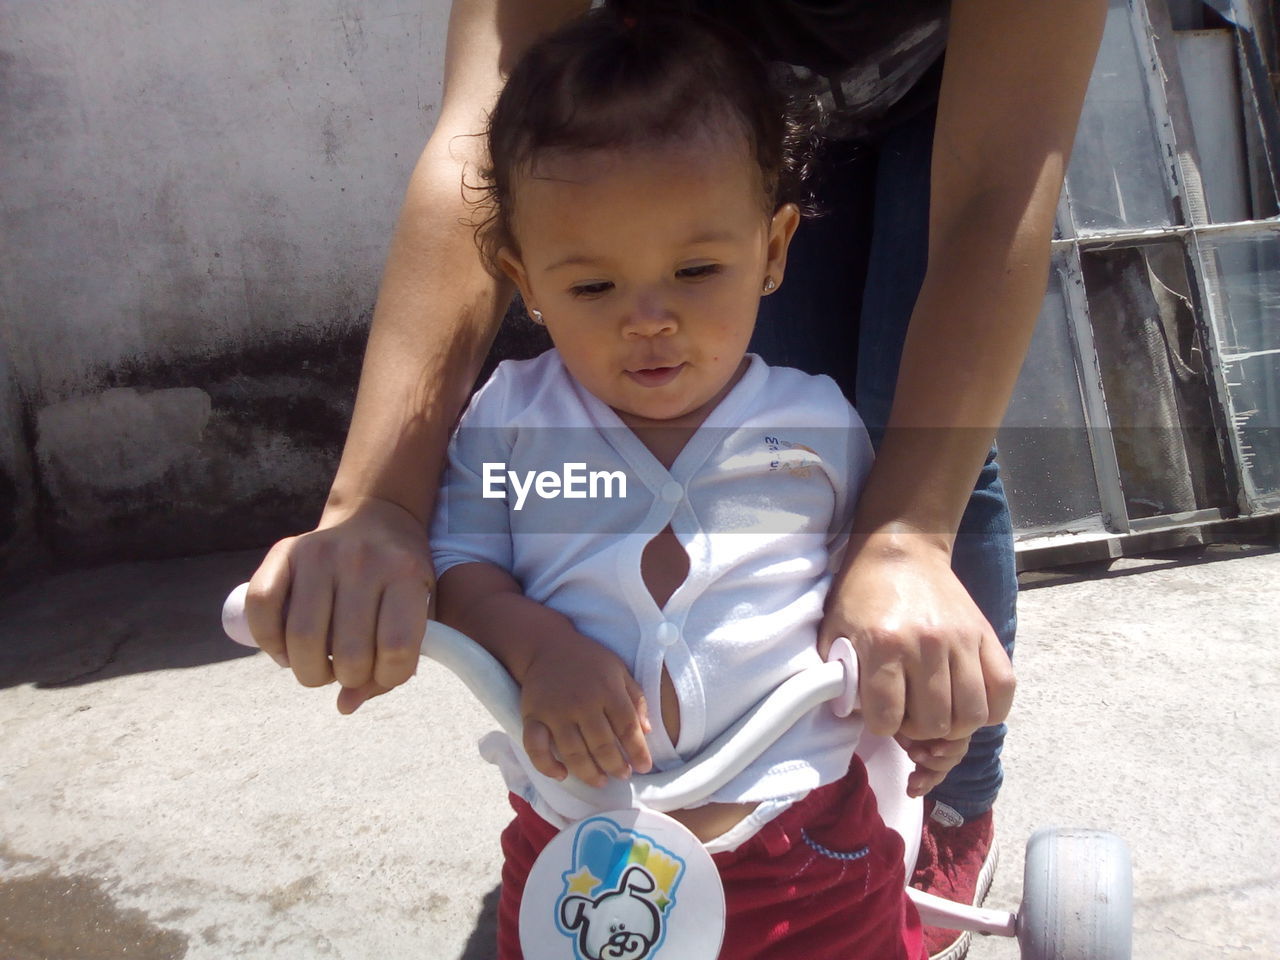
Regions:
<svg viewBox="0 0 1280 960"><path fill-rule="evenodd" d="M255 562L0 599L4 960L493 955L507 810L481 709L424 664L340 717L221 636ZM1083 575L1028 577L1020 600L991 904L1016 905L1034 827L1105 827L1133 850L1135 957L1280 956L1280 553Z"/></svg>

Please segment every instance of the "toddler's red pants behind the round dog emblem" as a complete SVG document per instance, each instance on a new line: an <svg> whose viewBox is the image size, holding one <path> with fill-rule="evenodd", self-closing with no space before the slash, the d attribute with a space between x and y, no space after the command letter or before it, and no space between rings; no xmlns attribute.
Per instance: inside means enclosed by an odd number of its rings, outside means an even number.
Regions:
<svg viewBox="0 0 1280 960"><path fill-rule="evenodd" d="M498 960L522 960L520 899L558 832L512 795L502 833ZM724 883L724 960L928 960L906 897L902 838L887 828L854 758L737 850L713 858ZM676 959L673 959L676 960Z"/></svg>

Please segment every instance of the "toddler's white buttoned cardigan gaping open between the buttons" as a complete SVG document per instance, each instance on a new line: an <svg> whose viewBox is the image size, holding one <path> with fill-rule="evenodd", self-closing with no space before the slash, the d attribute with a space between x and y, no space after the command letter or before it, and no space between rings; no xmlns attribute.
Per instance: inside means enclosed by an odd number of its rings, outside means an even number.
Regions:
<svg viewBox="0 0 1280 960"><path fill-rule="evenodd" d="M754 355L669 471L557 351L507 361L449 445L431 525L436 573L474 561L509 571L527 596L618 654L650 704L660 703L666 666L680 740L654 718L648 742L655 767L668 769L818 663L823 600L872 456L833 380ZM540 486L530 479L538 472ZM690 570L659 609L640 556L668 525ZM818 708L709 801L785 804L838 780L860 731L856 718ZM540 812L589 813L536 774L520 744L503 736L485 753Z"/></svg>

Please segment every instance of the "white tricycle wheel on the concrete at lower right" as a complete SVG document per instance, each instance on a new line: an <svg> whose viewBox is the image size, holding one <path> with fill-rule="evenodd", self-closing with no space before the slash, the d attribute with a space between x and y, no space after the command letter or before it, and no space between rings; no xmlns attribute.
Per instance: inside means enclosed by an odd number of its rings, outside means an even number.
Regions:
<svg viewBox="0 0 1280 960"><path fill-rule="evenodd" d="M1039 829L1027 844L1023 960L1129 960L1133 868L1129 847L1096 829Z"/></svg>

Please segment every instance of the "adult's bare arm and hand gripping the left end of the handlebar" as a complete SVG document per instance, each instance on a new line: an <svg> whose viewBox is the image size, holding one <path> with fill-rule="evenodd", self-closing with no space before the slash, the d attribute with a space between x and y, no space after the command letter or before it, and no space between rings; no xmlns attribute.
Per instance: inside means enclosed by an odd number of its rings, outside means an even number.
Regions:
<svg viewBox="0 0 1280 960"><path fill-rule="evenodd" d="M250 582L253 637L303 685L337 680L344 713L417 666L449 430L511 298L467 225L463 177L488 160L477 134L524 50L589 5L454 0L440 114L392 238L333 488L316 529L275 544Z"/></svg>

